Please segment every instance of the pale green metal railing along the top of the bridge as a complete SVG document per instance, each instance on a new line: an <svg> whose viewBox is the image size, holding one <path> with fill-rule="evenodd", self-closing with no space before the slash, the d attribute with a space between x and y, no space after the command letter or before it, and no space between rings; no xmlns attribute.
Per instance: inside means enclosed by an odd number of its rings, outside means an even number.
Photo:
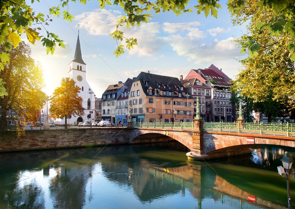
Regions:
<svg viewBox="0 0 295 209"><path fill-rule="evenodd" d="M177 123L134 123L138 128L193 130L193 122ZM266 135L295 136L294 123L238 123L238 122L204 122L204 131L222 131L237 133L253 133Z"/></svg>

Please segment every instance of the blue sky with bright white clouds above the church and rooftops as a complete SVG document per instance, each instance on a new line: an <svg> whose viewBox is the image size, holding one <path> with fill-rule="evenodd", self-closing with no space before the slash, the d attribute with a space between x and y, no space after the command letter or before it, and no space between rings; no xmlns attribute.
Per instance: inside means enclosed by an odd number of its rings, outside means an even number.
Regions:
<svg viewBox="0 0 295 209"><path fill-rule="evenodd" d="M193 1L192 1L193 2ZM30 1L28 1L30 4ZM238 60L245 57L234 39L243 28L232 26L225 1L220 2L218 18L205 17L204 13L186 13L176 16L173 12L153 15L141 26L122 26L125 37L136 37L138 45L118 56L113 54L117 42L110 34L115 30L119 17L124 15L121 7L107 6L100 9L96 0L86 3L70 2L67 9L74 15L72 22L53 17L46 29L59 35L66 49L56 47L53 55L46 54L41 42L29 43L32 57L43 68L44 91L51 95L60 85L61 78L68 77L68 65L74 59L78 29L81 51L87 64L87 81L97 98L105 89L118 81L137 77L140 72L183 78L191 69L204 69L211 64L234 79L242 66ZM32 4L33 11L48 14L48 9L59 5L59 0L40 0ZM192 4L193 5L193 4ZM79 25L79 27L78 27ZM39 31L46 36L46 31ZM26 41L26 36L22 36ZM28 43L28 41L26 41ZM120 43L118 43L120 44Z"/></svg>

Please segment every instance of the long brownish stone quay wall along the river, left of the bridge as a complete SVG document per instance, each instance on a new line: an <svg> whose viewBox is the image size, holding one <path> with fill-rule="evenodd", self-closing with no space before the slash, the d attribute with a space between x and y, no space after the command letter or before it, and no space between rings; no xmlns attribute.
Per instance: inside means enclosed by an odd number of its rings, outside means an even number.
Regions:
<svg viewBox="0 0 295 209"><path fill-rule="evenodd" d="M159 136L149 137L148 140L139 137L132 141L134 131L136 130L127 128L28 130L20 138L0 136L0 153L168 141Z"/></svg>

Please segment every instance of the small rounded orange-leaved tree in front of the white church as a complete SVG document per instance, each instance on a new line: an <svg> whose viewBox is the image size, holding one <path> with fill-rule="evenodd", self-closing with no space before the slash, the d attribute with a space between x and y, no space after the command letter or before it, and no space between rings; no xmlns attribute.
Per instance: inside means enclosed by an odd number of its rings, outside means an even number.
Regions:
<svg viewBox="0 0 295 209"><path fill-rule="evenodd" d="M82 98L78 96L81 88L70 78L62 78L60 86L54 90L50 105L50 117L64 118L64 128L67 129L67 118L71 115L84 115Z"/></svg>

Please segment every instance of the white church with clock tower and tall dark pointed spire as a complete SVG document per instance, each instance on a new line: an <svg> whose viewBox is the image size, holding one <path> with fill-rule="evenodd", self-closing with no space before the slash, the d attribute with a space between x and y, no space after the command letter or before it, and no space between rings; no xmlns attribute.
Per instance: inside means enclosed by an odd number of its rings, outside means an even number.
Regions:
<svg viewBox="0 0 295 209"><path fill-rule="evenodd" d="M93 123L95 121L95 94L90 88L86 80L86 72L87 72L86 70L87 70L86 63L82 59L80 38L79 38L79 31L78 31L75 56L74 56L74 59L69 64L68 76L70 79L72 78L76 82L76 85L81 88L79 96L83 99L82 107L84 108L84 115L82 116L71 115L67 119L68 125L73 125L73 124L78 125L80 122L86 122L86 121L90 121L90 123ZM50 100L49 100L49 103L50 103ZM49 111L49 107L47 105L44 108L44 112L48 112L48 111ZM49 113L49 117L50 117L50 113ZM45 119L44 121L47 121L47 120ZM54 122L54 124L56 125L63 125L64 119L49 118L49 122Z"/></svg>

